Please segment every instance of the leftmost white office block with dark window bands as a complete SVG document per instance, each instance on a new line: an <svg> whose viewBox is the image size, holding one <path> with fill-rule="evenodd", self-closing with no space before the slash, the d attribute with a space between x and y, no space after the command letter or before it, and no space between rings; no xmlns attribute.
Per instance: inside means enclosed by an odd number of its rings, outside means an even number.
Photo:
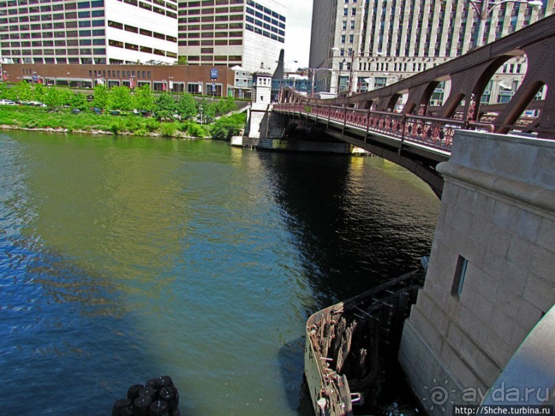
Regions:
<svg viewBox="0 0 555 416"><path fill-rule="evenodd" d="M0 0L3 63L177 60L177 0Z"/></svg>

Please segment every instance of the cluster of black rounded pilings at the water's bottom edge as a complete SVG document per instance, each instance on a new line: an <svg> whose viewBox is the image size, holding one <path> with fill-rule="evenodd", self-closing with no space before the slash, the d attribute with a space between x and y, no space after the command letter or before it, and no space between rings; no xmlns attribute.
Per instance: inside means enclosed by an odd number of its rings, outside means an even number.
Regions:
<svg viewBox="0 0 555 416"><path fill-rule="evenodd" d="M127 398L113 404L111 416L180 416L179 393L169 375L133 384Z"/></svg>

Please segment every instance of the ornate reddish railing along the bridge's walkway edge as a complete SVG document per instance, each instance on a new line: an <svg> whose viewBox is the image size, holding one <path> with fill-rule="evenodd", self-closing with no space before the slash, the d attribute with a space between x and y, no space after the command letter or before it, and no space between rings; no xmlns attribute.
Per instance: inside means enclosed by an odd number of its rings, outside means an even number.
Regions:
<svg viewBox="0 0 555 416"><path fill-rule="evenodd" d="M276 113L311 118L327 125L333 123L343 129L350 127L364 133L365 138L378 134L443 151L450 151L453 135L457 129L494 130L492 124L332 105L283 103L274 104L273 110Z"/></svg>

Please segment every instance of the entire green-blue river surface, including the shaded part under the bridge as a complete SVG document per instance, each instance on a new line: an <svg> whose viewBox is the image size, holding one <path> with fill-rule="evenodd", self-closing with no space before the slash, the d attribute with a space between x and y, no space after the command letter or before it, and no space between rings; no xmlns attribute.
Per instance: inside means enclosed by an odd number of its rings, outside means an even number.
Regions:
<svg viewBox="0 0 555 416"><path fill-rule="evenodd" d="M378 157L0 133L0 414L310 415L314 311L419 264L439 201Z"/></svg>

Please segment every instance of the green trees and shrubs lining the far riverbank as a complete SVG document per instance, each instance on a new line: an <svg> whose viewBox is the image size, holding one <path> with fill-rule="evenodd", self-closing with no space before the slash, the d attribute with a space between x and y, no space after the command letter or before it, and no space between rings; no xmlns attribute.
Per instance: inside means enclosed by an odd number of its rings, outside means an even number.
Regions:
<svg viewBox="0 0 555 416"><path fill-rule="evenodd" d="M69 89L20 83L0 88L0 98L47 105L0 106L3 129L228 140L246 123L244 113L217 118L237 109L233 98L197 102L190 94L181 94L175 100L168 93L154 96L143 87L131 94L127 87L108 90L97 85L92 102L88 102L84 94Z"/></svg>

